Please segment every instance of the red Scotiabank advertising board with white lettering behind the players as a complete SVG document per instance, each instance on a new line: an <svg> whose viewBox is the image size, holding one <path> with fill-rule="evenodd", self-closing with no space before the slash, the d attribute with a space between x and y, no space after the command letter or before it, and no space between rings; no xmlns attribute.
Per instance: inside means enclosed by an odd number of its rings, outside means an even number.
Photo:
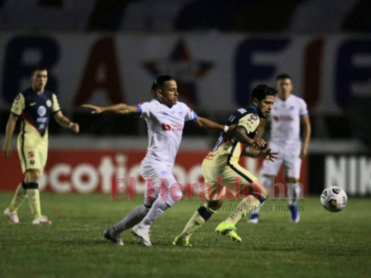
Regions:
<svg viewBox="0 0 371 278"><path fill-rule="evenodd" d="M208 151L180 151L175 161L173 174L177 182L184 188L187 184L202 184L204 182L201 163ZM145 156L142 151L118 150L49 150L48 160L42 180L41 191L57 193L92 193L111 194L112 179L125 179L118 187L128 186L130 178L135 182L135 193L142 194L145 181L140 175L140 163ZM262 161L243 157L240 164L259 177ZM0 158L1 187L0 190L15 190L22 180L17 151L13 151L8 160ZM307 190L306 162L303 162L301 183L303 192ZM283 183L282 171L276 182ZM197 186L193 190L197 191Z"/></svg>

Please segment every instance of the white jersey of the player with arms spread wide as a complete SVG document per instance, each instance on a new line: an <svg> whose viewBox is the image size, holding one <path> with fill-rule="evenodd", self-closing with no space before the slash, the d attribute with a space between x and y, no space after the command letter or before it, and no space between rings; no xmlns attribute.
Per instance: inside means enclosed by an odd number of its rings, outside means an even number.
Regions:
<svg viewBox="0 0 371 278"><path fill-rule="evenodd" d="M196 113L185 103L179 101L171 108L155 99L136 106L138 115L147 122L148 148L146 158L161 161L173 168L182 139L184 123L196 121Z"/></svg>

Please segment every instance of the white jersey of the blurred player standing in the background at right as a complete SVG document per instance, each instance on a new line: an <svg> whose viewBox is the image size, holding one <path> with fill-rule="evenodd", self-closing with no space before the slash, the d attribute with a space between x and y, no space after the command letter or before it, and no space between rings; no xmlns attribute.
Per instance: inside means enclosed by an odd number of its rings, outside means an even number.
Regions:
<svg viewBox="0 0 371 278"><path fill-rule="evenodd" d="M295 95L286 100L275 97L270 111L270 141L276 144L294 144L300 141L300 117L308 114L305 101Z"/></svg>

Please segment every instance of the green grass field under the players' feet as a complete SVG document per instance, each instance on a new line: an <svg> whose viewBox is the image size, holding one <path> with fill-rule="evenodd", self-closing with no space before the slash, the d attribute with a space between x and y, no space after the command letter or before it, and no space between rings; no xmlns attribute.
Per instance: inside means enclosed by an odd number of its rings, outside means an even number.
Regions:
<svg viewBox="0 0 371 278"><path fill-rule="evenodd" d="M5 208L12 193L0 194ZM331 213L319 197L300 201L301 222L275 211L286 201L268 201L272 211L259 224L237 225L237 244L214 232L228 211L220 211L194 234L193 248L173 247L200 201L182 201L151 228L153 246L138 244L129 231L124 247L102 239L102 231L141 204L112 201L107 195L42 194L51 227L31 223L28 201L19 209L22 224L0 221L0 277L370 277L370 199L350 198ZM228 205L226 202L224 205ZM236 204L234 202L233 204Z"/></svg>

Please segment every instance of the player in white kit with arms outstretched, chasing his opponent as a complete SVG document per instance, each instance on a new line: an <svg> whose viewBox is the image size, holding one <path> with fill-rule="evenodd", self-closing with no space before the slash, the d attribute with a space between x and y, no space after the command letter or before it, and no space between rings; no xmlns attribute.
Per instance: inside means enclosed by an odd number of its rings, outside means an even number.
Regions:
<svg viewBox="0 0 371 278"><path fill-rule="evenodd" d="M148 149L141 163L141 175L147 181L144 204L135 208L117 224L109 227L104 237L124 245L120 234L133 228L132 232L145 246L150 246L149 228L167 208L182 198L182 191L173 175L175 156L186 122L198 127L228 131L229 127L201 118L184 103L178 101L177 83L171 76L160 76L152 84L155 98L138 105L116 104L97 107L92 113L111 111L119 114L136 114L144 118L148 127ZM232 130L232 128L231 128Z"/></svg>

